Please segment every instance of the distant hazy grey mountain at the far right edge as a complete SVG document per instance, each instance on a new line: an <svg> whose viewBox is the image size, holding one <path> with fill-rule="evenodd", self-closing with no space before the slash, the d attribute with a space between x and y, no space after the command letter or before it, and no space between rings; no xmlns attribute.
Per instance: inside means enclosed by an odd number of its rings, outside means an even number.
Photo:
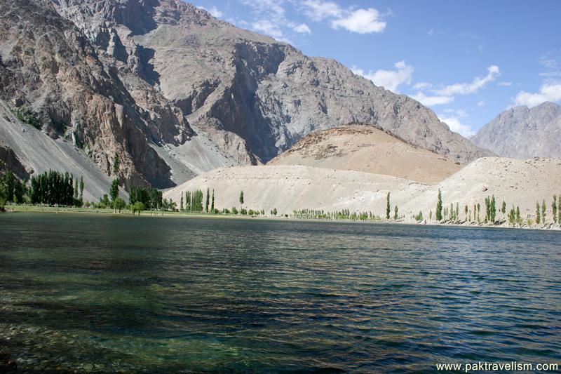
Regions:
<svg viewBox="0 0 561 374"><path fill-rule="evenodd" d="M529 109L513 107L483 126L471 141L501 156L561 158L561 106L543 102Z"/></svg>

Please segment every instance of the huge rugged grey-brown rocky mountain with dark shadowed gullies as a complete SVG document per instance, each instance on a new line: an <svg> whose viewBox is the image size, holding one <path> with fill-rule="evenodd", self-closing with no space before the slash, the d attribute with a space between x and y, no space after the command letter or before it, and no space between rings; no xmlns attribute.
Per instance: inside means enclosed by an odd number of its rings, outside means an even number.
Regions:
<svg viewBox="0 0 561 374"><path fill-rule="evenodd" d="M462 163L487 154L419 102L179 0L0 5L0 100L111 178L119 154L125 187L266 162L351 122Z"/></svg>

